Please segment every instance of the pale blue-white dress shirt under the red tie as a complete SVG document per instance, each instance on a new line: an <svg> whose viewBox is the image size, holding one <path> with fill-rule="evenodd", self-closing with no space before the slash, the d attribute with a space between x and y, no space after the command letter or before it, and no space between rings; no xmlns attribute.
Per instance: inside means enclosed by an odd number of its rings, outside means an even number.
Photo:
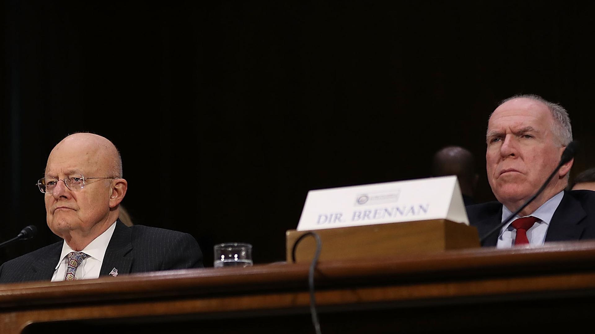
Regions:
<svg viewBox="0 0 595 334"><path fill-rule="evenodd" d="M529 240L530 245L543 245L546 241L546 234L547 228L549 228L550 222L552 221L552 216L560 202L562 201L562 197L564 197L564 191L560 191L556 196L550 198L546 201L546 203L541 204L540 207L535 210L535 212L531 213L531 215L541 221L536 222L530 229L527 230L527 239ZM512 215L512 211L508 209L506 206L502 206L502 220L503 222L508 216ZM498 243L496 244L496 248L511 248L514 244L516 238L516 229L511 226L512 222L517 219L522 218L519 215L516 215L515 218L511 220L506 226L504 226L500 230L500 236L498 237Z"/></svg>

